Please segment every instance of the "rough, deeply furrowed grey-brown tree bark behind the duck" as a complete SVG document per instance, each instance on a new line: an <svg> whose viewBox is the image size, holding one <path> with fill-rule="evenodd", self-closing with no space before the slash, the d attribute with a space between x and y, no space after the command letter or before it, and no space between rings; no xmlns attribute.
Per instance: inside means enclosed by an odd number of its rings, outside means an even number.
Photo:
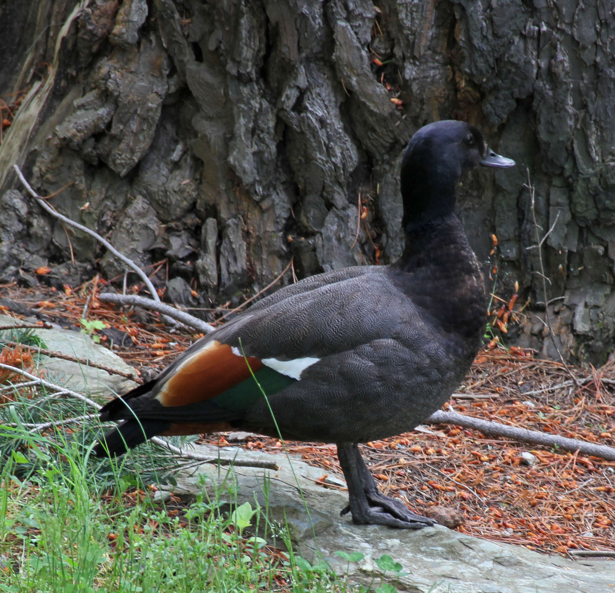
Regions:
<svg viewBox="0 0 615 593"><path fill-rule="evenodd" d="M69 231L72 266L65 229L15 189L13 163L42 195L73 182L53 205L140 264L168 258L186 304L237 302L291 256L300 277L392 261L400 151L421 125L456 118L518 162L459 189L478 257L499 267L490 288L507 299L518 281L531 298L509 338L556 354L526 249L528 167L539 224L558 216L543 256L563 355L602 363L613 350L609 0L0 0L0 11L0 95L22 98L14 119L2 110L0 282L31 282L46 264L60 285L97 266L124 272ZM367 218L352 246L359 192Z"/></svg>

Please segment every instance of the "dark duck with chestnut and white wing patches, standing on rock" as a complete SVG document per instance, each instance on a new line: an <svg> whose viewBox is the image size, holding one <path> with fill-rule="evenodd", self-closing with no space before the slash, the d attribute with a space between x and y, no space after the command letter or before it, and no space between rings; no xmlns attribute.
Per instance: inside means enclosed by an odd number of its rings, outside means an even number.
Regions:
<svg viewBox="0 0 615 593"><path fill-rule="evenodd" d="M252 305L157 379L106 404L101 421L121 424L95 455L121 455L154 435L240 428L277 436L270 405L284 438L337 444L349 495L342 514L357 524L432 525L379 492L358 443L423 422L478 351L485 289L454 207L457 181L481 163L515 165L464 122L418 130L402 160L399 261L305 278Z"/></svg>

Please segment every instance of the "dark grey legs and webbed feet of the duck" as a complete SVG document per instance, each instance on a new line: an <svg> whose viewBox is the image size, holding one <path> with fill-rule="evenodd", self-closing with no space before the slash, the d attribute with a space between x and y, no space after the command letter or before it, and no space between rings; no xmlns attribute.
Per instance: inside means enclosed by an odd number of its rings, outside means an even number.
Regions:
<svg viewBox="0 0 615 593"><path fill-rule="evenodd" d="M346 485L349 505L341 514L352 513L357 524L388 525L403 529L421 529L435 523L408 510L400 500L384 496L365 466L359 446L355 442L339 442L338 459Z"/></svg>

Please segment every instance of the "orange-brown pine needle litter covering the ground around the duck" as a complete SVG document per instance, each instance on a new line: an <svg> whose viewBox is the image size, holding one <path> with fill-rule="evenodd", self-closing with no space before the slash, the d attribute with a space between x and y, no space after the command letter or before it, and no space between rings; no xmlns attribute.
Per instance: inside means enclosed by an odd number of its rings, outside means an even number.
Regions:
<svg viewBox="0 0 615 593"><path fill-rule="evenodd" d="M7 286L0 288L0 299L76 329L87 293L87 286L65 292ZM26 318L9 312L2 300L0 313ZM170 330L157 313L122 311L98 302L90 303L88 318L124 332L122 344L113 344L113 350L148 377L199 337L189 330ZM101 344L109 346L110 340L97 333ZM584 382L579 388L561 363L536 359L520 348L486 349L444 409L615 446L615 362L574 372ZM226 436L213 434L202 441L225 447L230 445ZM240 446L282 453L277 439L256 435ZM323 477L341 476L335 445L287 442L287 449L322 468ZM381 490L413 510L438 505L461 511L460 532L539 552L615 551L615 461L536 448L453 425L419 426L363 445L362 454ZM335 486L323 482L323 488Z"/></svg>

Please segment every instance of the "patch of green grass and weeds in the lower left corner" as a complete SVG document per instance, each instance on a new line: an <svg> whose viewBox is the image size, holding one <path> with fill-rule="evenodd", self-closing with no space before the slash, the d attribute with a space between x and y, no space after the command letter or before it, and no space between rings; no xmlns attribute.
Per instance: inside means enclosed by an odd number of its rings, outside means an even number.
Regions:
<svg viewBox="0 0 615 593"><path fill-rule="evenodd" d="M32 387L0 404L0 592L367 591L297 556L267 508L233 504L230 481L154 503L179 467L161 447L101 461L97 420L36 428L90 412Z"/></svg>

